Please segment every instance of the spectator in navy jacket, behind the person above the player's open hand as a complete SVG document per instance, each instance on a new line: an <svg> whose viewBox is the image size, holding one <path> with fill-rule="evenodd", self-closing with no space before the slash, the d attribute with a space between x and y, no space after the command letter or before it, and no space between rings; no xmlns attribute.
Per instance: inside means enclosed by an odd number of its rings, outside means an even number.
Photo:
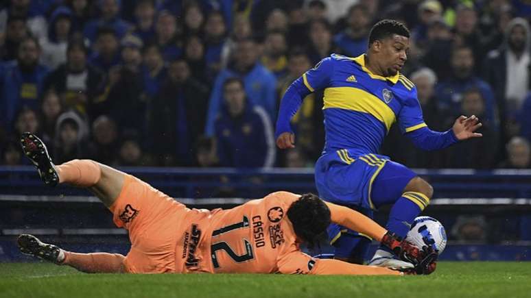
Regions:
<svg viewBox="0 0 531 298"><path fill-rule="evenodd" d="M464 90L477 88L480 90L485 104L485 118L480 120L483 123L489 123L493 129L498 130L494 93L491 86L474 75L474 56L471 47L454 48L451 53L450 64L453 71L452 76L436 86L436 93L440 99L439 108L456 114L460 110Z"/></svg>

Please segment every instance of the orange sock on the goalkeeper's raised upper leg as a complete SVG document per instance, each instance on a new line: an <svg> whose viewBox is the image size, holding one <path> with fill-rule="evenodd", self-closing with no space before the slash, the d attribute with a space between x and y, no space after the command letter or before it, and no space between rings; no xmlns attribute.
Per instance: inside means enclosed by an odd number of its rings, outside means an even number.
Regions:
<svg viewBox="0 0 531 298"><path fill-rule="evenodd" d="M91 187L102 177L102 169L93 160L71 160L56 166L59 183L78 187Z"/></svg>

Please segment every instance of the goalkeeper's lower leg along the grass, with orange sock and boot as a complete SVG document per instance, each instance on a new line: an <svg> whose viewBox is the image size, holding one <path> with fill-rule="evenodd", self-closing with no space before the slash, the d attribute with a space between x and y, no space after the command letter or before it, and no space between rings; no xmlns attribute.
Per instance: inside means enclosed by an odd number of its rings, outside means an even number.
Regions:
<svg viewBox="0 0 531 298"><path fill-rule="evenodd" d="M28 256L41 258L58 265L68 265L86 273L123 273L123 260L119 253L73 253L56 245L43 243L33 235L21 234L19 249Z"/></svg>

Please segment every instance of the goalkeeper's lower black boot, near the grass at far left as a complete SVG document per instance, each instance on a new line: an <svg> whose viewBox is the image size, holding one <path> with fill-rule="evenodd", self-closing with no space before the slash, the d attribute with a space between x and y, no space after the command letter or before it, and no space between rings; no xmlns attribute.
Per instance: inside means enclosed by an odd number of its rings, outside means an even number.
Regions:
<svg viewBox="0 0 531 298"><path fill-rule="evenodd" d="M37 237L21 234L16 240L21 253L60 264L64 260L64 251L56 245L42 243Z"/></svg>

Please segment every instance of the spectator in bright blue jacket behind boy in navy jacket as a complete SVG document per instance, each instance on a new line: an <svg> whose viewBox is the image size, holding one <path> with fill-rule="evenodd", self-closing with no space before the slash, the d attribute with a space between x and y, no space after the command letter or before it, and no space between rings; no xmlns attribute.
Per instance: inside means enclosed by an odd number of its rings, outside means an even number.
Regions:
<svg viewBox="0 0 531 298"><path fill-rule="evenodd" d="M264 108L270 119L276 119L276 79L257 61L259 53L255 41L250 38L240 40L235 53L237 55L234 56L234 63L220 71L215 79L209 101L207 127L205 127L207 136L212 136L214 133L214 121L222 105L223 84L228 77L241 77L250 101Z"/></svg>

